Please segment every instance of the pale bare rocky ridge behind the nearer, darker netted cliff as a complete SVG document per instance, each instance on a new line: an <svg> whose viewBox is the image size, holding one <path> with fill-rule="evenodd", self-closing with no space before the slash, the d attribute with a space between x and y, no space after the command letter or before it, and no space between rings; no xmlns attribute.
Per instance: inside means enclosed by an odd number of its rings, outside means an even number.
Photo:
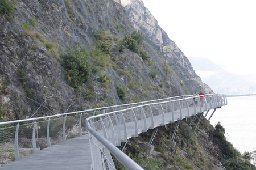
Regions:
<svg viewBox="0 0 256 170"><path fill-rule="evenodd" d="M209 93L210 87L204 84L200 77L196 75L187 57L169 39L167 33L159 27L154 16L144 7L143 1L121 0L121 3L125 6L127 15L133 23L134 28L143 32L144 36L159 46L162 56L179 76L181 82L189 89L189 92L203 90L205 93Z"/></svg>

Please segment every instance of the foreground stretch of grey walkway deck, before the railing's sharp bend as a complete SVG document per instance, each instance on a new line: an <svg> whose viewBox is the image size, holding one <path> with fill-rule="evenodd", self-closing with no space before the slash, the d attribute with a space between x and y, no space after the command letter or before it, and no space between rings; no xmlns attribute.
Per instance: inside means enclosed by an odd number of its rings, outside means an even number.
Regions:
<svg viewBox="0 0 256 170"><path fill-rule="evenodd" d="M71 145L72 144L72 145ZM69 139L3 165L0 169L91 169L89 135Z"/></svg>

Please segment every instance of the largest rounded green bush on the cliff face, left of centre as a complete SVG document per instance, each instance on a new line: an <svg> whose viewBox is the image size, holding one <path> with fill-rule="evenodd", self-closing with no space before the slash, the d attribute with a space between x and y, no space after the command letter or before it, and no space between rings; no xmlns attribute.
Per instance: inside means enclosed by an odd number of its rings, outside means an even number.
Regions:
<svg viewBox="0 0 256 170"><path fill-rule="evenodd" d="M87 49L71 47L68 53L61 57L61 64L67 71L67 82L70 86L78 88L89 79L91 69L88 56Z"/></svg>

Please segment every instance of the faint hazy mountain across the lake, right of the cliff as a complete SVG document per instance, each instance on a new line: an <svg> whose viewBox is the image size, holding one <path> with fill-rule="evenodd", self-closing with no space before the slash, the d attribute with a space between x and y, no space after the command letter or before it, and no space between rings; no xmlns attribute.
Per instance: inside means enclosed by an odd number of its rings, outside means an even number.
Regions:
<svg viewBox="0 0 256 170"><path fill-rule="evenodd" d="M190 57L196 74L208 84L214 92L227 95L255 94L255 77L237 75L225 71L207 58Z"/></svg>

